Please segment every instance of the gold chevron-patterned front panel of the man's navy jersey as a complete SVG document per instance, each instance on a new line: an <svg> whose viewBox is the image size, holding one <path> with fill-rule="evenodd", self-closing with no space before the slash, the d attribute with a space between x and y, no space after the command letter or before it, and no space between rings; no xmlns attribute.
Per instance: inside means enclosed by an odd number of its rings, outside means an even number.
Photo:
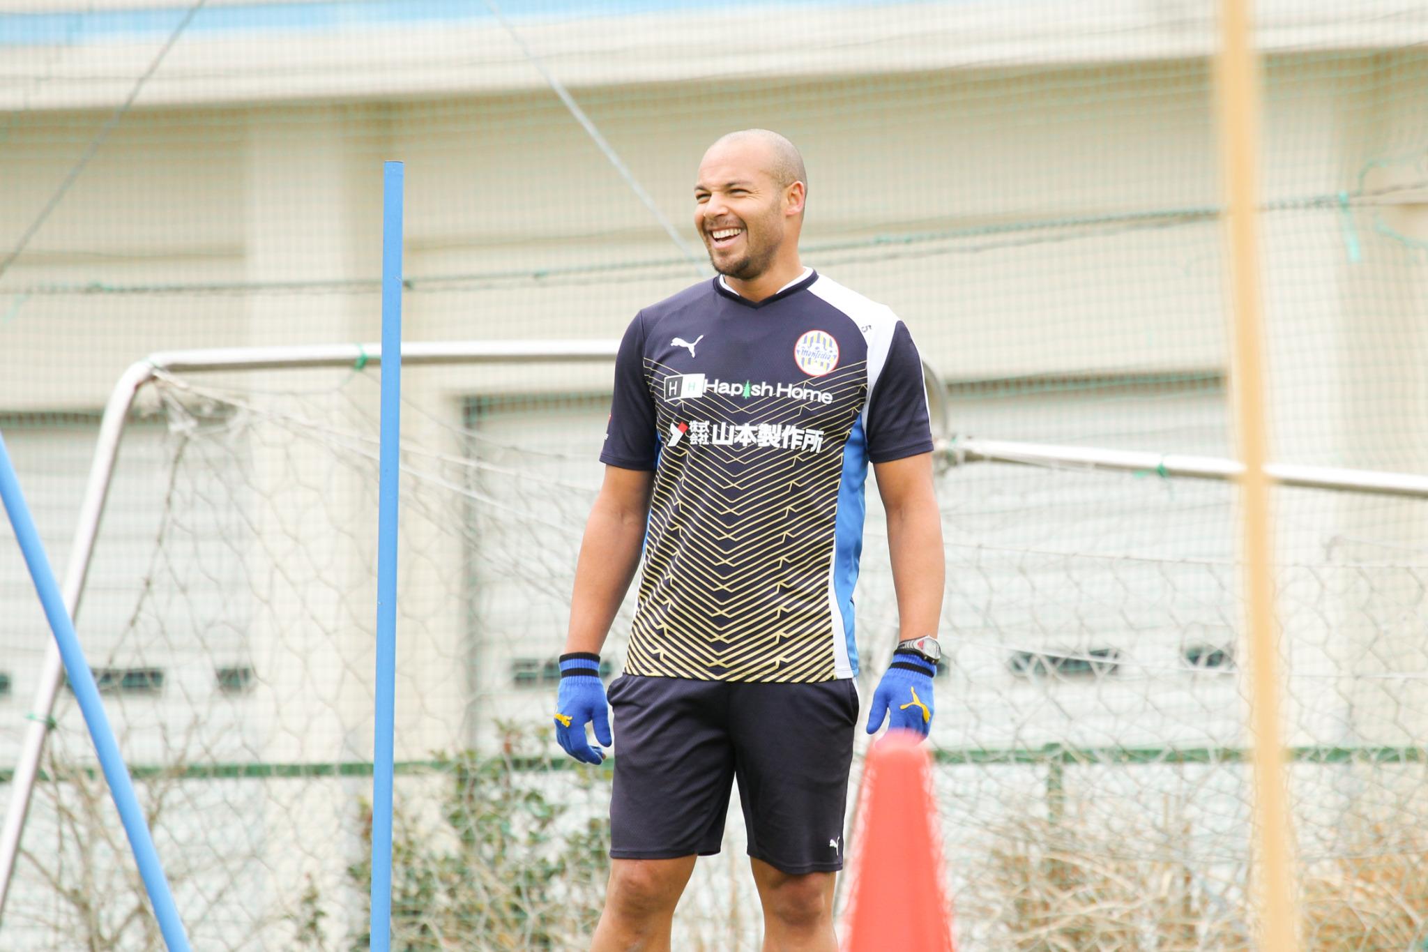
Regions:
<svg viewBox="0 0 1428 952"><path fill-rule="evenodd" d="M828 597L834 527L865 361L810 378L794 397L733 381L670 400L674 371L648 358L644 371L664 444L625 671L834 678L833 644L844 637Z"/></svg>

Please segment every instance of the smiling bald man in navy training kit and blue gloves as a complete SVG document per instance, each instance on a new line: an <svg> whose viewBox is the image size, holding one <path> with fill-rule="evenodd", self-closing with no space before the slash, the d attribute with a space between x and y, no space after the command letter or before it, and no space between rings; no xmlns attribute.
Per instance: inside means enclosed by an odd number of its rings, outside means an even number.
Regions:
<svg viewBox="0 0 1428 952"><path fill-rule="evenodd" d="M640 311L620 344L555 704L561 746L601 762L585 734L611 744L600 649L643 554L608 692L620 748L598 952L670 948L734 782L764 949L837 949L870 462L900 644L867 731L887 719L925 736L932 719L942 537L921 358L891 310L804 267L807 193L778 133L710 146L694 227L718 275Z"/></svg>

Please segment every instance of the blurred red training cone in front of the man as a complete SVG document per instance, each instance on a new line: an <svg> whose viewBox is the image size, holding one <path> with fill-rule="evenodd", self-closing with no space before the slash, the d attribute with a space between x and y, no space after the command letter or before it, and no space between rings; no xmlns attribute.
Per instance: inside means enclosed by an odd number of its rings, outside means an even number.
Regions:
<svg viewBox="0 0 1428 952"><path fill-rule="evenodd" d="M868 751L847 952L952 952L932 775L920 741L890 729Z"/></svg>

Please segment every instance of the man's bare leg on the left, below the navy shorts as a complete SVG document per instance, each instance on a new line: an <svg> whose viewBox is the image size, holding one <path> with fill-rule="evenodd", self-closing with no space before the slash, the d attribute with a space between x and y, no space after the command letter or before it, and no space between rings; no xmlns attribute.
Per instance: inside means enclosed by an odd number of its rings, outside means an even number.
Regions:
<svg viewBox="0 0 1428 952"><path fill-rule="evenodd" d="M591 952L670 952L674 906L694 872L694 859L611 859Z"/></svg>

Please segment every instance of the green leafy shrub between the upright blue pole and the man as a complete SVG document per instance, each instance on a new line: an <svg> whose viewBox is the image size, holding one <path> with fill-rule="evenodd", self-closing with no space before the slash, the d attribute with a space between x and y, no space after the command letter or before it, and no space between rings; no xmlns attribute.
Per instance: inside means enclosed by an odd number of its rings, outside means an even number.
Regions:
<svg viewBox="0 0 1428 952"><path fill-rule="evenodd" d="M393 816L391 949L561 949L588 941L610 869L610 824L570 805L608 799L608 769L545 761L530 731L503 725L498 755L438 755L448 778L436 804L400 802ZM366 812L371 842L371 812ZM347 871L364 898L370 862ZM366 903L364 903L366 905ZM370 905L366 905L370 909ZM366 921L366 916L364 916ZM351 949L368 948L370 935Z"/></svg>

